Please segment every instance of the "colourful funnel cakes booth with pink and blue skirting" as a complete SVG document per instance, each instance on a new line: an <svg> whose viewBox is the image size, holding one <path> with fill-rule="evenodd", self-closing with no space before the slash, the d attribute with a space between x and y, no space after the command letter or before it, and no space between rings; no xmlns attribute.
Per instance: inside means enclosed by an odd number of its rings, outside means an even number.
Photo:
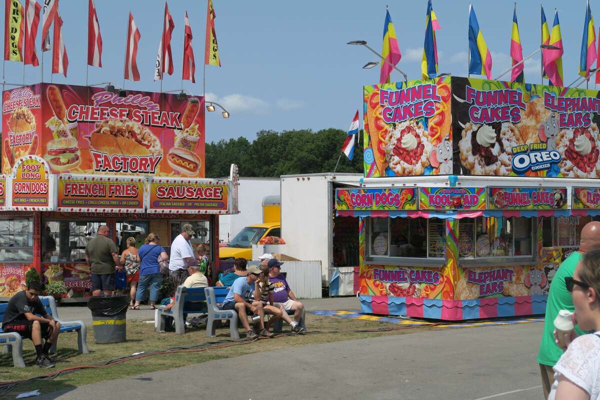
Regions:
<svg viewBox="0 0 600 400"><path fill-rule="evenodd" d="M600 215L596 91L440 77L364 88L363 312L436 320L543 314Z"/></svg>

